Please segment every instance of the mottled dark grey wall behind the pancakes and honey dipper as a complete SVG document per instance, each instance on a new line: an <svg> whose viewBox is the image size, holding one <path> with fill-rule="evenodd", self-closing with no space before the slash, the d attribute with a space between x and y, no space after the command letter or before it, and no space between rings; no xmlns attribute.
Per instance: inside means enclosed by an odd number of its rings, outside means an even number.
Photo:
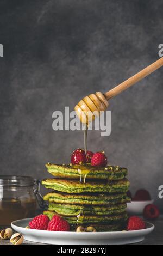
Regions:
<svg viewBox="0 0 163 256"><path fill-rule="evenodd" d="M1 174L46 178L45 163L70 161L82 131L53 131L52 113L106 92L158 59L163 2L0 2ZM111 136L90 132L90 150L129 169L131 190L158 200L163 184L160 69L110 101Z"/></svg>

